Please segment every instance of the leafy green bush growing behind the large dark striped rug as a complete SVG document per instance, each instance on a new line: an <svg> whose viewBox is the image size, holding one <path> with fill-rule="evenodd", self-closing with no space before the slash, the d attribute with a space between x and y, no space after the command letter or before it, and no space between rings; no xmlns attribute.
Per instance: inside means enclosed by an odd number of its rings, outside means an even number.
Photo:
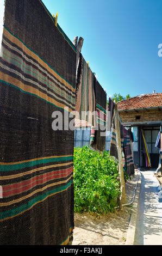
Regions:
<svg viewBox="0 0 162 256"><path fill-rule="evenodd" d="M74 212L115 212L120 193L117 163L107 151L74 148Z"/></svg>

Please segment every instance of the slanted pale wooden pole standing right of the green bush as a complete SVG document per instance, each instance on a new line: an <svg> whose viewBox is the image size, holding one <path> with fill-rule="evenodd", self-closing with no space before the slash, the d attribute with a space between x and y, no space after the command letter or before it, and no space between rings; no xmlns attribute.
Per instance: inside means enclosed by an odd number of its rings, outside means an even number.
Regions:
<svg viewBox="0 0 162 256"><path fill-rule="evenodd" d="M121 192L122 192L121 204L126 204L126 192L125 192L124 173L123 173L120 125L119 125L119 115L118 115L118 111L117 111L117 105L115 105L115 108L114 108L114 118L115 118L115 130L116 130L117 155L118 155L118 160L119 160L119 175L120 175Z"/></svg>

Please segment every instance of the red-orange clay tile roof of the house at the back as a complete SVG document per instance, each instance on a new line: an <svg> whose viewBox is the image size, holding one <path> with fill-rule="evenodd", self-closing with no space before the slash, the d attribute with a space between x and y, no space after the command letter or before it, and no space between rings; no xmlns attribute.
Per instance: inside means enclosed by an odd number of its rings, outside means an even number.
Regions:
<svg viewBox="0 0 162 256"><path fill-rule="evenodd" d="M162 107L162 93L141 94L117 103L118 110Z"/></svg>

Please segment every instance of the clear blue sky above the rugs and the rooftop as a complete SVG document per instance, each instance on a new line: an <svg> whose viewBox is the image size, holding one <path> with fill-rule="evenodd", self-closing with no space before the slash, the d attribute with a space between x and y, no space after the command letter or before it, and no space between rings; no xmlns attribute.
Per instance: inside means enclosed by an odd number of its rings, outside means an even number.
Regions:
<svg viewBox="0 0 162 256"><path fill-rule="evenodd" d="M161 0L43 0L68 38L82 36L82 54L108 95L162 92Z"/></svg>

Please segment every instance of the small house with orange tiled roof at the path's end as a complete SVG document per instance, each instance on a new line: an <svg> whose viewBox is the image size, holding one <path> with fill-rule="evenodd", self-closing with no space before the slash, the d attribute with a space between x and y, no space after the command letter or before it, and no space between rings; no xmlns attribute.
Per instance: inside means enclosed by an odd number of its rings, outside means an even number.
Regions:
<svg viewBox="0 0 162 256"><path fill-rule="evenodd" d="M134 163L146 167L144 135L151 160L151 167L157 168L159 150L155 148L160 127L162 126L162 93L141 94L117 103L124 126L132 127L134 133ZM142 133L143 132L143 133Z"/></svg>

